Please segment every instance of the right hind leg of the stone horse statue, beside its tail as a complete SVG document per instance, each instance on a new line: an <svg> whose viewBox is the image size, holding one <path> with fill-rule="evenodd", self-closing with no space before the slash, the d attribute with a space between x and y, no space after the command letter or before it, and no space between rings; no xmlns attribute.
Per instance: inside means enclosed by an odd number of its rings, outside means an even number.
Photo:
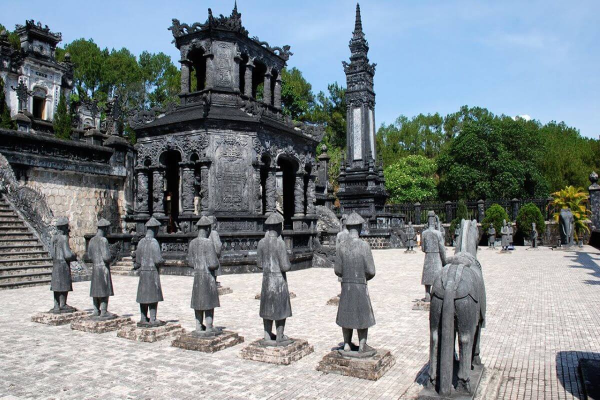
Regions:
<svg viewBox="0 0 600 400"><path fill-rule="evenodd" d="M473 361L475 330L479 321L479 308L470 296L455 300L454 304L457 317L458 348L460 352L457 391L470 393L469 380Z"/></svg>

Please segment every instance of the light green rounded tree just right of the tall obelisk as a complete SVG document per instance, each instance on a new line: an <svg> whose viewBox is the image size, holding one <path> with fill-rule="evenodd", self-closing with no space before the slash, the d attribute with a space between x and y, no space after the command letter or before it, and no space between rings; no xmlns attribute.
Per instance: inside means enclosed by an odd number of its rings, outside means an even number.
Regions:
<svg viewBox="0 0 600 400"><path fill-rule="evenodd" d="M435 199L436 163L422 155L409 155L385 167L385 187L390 203Z"/></svg>

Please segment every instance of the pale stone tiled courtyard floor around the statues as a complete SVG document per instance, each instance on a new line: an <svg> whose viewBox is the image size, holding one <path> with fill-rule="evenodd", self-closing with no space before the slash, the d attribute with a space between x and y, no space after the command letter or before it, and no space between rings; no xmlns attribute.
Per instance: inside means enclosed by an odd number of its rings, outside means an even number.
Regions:
<svg viewBox="0 0 600 400"><path fill-rule="evenodd" d="M215 354L95 335L32 323L50 308L48 287L0 291L0 399L398 399L419 392L415 378L428 357L428 313L412 311L422 297L423 254L374 252L377 275L369 283L377 325L370 344L391 350L397 361L379 381L326 375L317 362L341 341L331 269L289 273L293 317L286 332L307 339L314 353L290 366L239 358L244 344ZM482 336L486 366L501 369L500 399L581 398L577 360L600 359L600 252L481 249L488 298ZM232 294L221 297L215 321L237 330L247 342L260 336L260 275L221 277ZM113 277L110 309L137 318L137 278ZM191 278L163 276L160 318L193 329ZM74 284L70 303L89 308L89 282Z"/></svg>

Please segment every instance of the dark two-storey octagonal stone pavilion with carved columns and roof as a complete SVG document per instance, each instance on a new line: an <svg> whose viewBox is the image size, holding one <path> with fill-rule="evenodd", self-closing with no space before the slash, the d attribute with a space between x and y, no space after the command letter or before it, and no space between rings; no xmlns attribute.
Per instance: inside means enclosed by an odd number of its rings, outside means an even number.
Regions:
<svg viewBox="0 0 600 400"><path fill-rule="evenodd" d="M250 37L237 7L230 16L169 28L181 52L181 104L140 112L137 136L135 241L148 216L163 226L163 273L182 267L201 215L214 215L227 272L254 270L269 212L284 216L283 237L296 268L309 267L316 234L316 147L321 127L281 112L281 70L290 47Z"/></svg>

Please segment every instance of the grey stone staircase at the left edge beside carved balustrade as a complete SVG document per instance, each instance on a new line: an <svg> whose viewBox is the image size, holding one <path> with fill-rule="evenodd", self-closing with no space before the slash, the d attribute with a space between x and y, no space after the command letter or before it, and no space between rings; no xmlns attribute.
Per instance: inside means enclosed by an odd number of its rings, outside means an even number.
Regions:
<svg viewBox="0 0 600 400"><path fill-rule="evenodd" d="M50 254L0 196L0 290L49 285L50 275Z"/></svg>

